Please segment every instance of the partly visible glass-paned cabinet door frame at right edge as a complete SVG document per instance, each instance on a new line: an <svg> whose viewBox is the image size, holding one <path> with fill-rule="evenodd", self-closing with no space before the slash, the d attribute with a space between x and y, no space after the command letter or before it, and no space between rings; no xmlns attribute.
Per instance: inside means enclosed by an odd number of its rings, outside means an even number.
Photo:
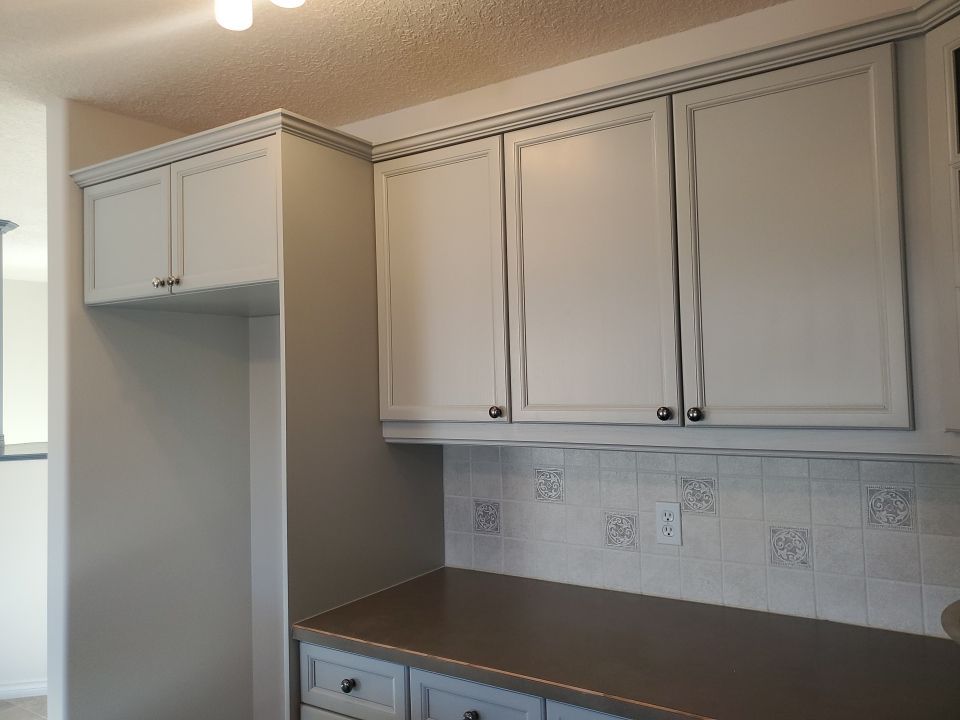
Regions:
<svg viewBox="0 0 960 720"><path fill-rule="evenodd" d="M930 138L930 198L937 240L944 426L960 432L960 18L925 38Z"/></svg>

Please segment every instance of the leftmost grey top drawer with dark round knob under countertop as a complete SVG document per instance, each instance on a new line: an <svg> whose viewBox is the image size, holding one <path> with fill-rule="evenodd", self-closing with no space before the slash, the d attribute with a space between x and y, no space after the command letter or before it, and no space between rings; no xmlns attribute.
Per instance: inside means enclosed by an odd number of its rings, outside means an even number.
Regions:
<svg viewBox="0 0 960 720"><path fill-rule="evenodd" d="M341 689L344 681L350 692ZM406 668L301 643L300 700L358 720L406 720Z"/></svg>

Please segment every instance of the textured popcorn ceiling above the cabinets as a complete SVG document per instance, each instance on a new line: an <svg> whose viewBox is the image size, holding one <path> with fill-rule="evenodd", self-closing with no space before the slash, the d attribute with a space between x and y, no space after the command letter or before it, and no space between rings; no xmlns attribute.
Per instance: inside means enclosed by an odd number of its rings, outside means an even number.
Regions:
<svg viewBox="0 0 960 720"><path fill-rule="evenodd" d="M340 125L784 0L2 0L0 84L195 131L285 107Z"/></svg>

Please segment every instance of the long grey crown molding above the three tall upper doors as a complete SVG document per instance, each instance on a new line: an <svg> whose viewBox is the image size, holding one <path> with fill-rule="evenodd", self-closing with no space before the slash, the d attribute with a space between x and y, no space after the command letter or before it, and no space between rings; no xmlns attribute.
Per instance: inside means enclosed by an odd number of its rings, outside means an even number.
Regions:
<svg viewBox="0 0 960 720"><path fill-rule="evenodd" d="M491 115L450 127L419 133L373 147L373 160L435 150L490 135L521 130L575 115L775 70L871 45L924 35L960 14L960 0L921 0L912 10L733 57L723 57L633 82L561 98L529 108Z"/></svg>

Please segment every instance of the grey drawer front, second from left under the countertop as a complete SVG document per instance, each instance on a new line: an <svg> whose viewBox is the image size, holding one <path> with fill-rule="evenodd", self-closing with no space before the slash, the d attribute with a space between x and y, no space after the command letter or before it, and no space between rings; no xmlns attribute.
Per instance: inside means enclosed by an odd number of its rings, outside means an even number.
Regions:
<svg viewBox="0 0 960 720"><path fill-rule="evenodd" d="M413 669L410 671L410 709L413 720L543 720L543 700Z"/></svg>

